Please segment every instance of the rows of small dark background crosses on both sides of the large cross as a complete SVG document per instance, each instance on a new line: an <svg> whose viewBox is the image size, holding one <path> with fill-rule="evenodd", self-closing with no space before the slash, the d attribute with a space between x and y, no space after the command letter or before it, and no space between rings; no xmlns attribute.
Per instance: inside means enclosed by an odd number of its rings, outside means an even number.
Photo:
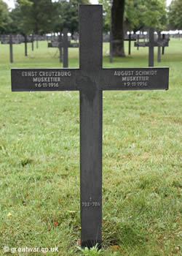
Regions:
<svg viewBox="0 0 182 256"><path fill-rule="evenodd" d="M143 35L142 35L143 36ZM25 56L28 56L27 53L27 43L31 42L31 48L33 50L33 42L34 39L36 39L36 47L38 48L38 41L44 40L46 37L44 36L12 36L12 35L6 35L1 36L1 44L9 44L9 59L10 62L13 62L13 54L12 54L12 45L13 44L20 44L22 42L25 43ZM113 44L120 42L120 40L112 40L110 39L112 36L108 36L103 38L103 42L110 42L110 62L113 61ZM169 45L169 38L165 38L165 34L162 34L161 32L158 32L158 40L154 40L154 29L149 29L149 41L148 42L139 42L140 35L132 35L129 34L128 37L124 38L124 41L128 41L128 54L131 54L131 42L136 41L138 39L138 42L135 42L135 47L149 47L149 67L154 67L154 47L158 47L158 54L157 54L157 61L161 61L161 47L162 47L162 54L165 53L165 47ZM48 39L48 37L47 37ZM79 43L78 42L72 42L68 40L68 29L63 29L63 36L60 33L60 36L57 39L52 39L51 42L48 43L48 48L58 48L60 52L60 62L63 61L63 67L68 67L68 48L78 48ZM62 53L63 48L63 53Z"/></svg>

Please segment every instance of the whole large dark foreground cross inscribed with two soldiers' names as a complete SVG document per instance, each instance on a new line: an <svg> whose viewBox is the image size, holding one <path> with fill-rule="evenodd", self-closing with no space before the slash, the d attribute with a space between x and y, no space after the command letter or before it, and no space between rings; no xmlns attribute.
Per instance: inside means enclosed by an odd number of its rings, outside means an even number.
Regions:
<svg viewBox="0 0 182 256"><path fill-rule="evenodd" d="M79 6L79 68L12 69L12 91L79 91L81 244L102 243L103 90L168 89L168 67L103 69L102 5Z"/></svg>

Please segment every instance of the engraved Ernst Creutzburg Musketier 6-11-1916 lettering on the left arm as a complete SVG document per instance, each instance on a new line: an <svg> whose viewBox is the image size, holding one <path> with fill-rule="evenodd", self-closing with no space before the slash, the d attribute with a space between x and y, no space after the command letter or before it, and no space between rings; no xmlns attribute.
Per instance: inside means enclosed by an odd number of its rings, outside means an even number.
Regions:
<svg viewBox="0 0 182 256"><path fill-rule="evenodd" d="M36 88L58 87L61 78L71 77L71 71L23 71L22 77L31 77Z"/></svg>

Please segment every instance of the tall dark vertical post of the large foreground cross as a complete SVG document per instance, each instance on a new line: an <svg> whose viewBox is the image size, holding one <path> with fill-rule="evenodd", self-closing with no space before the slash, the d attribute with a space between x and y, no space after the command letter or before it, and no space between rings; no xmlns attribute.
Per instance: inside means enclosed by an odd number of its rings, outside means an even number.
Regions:
<svg viewBox="0 0 182 256"><path fill-rule="evenodd" d="M79 61L84 76L80 90L81 243L88 247L98 243L100 247L102 91L97 88L96 80L102 68L102 6L92 6L91 9L90 5L81 5L79 11Z"/></svg>

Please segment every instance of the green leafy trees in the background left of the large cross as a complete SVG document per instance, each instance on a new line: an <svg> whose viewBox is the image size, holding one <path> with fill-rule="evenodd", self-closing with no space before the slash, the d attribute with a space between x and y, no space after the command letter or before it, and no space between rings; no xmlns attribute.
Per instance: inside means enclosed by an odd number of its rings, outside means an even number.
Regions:
<svg viewBox="0 0 182 256"><path fill-rule="evenodd" d="M0 34L47 34L68 28L78 31L78 4L89 0L17 0L15 9L8 10L0 0Z"/></svg>

